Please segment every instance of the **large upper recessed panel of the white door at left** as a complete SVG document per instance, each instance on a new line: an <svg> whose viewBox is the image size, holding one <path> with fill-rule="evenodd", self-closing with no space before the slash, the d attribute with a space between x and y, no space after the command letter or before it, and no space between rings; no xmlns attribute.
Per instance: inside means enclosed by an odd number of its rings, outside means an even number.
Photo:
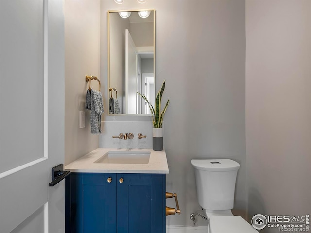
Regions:
<svg viewBox="0 0 311 233"><path fill-rule="evenodd" d="M0 173L3 173L44 155L41 127L44 2L1 0L0 11ZM32 131L35 133L29 137Z"/></svg>

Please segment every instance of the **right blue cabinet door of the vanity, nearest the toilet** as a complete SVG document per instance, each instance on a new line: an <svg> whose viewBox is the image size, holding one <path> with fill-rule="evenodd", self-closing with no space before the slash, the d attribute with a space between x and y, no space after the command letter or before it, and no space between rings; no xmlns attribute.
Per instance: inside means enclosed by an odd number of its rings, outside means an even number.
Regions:
<svg viewBox="0 0 311 233"><path fill-rule="evenodd" d="M165 175L117 174L117 233L164 232Z"/></svg>

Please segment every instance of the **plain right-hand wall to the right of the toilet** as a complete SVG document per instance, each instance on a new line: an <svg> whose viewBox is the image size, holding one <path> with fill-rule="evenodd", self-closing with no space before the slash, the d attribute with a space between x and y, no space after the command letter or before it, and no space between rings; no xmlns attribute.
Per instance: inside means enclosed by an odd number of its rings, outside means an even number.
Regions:
<svg viewBox="0 0 311 233"><path fill-rule="evenodd" d="M311 1L247 0L249 217L311 213L310 67Z"/></svg>

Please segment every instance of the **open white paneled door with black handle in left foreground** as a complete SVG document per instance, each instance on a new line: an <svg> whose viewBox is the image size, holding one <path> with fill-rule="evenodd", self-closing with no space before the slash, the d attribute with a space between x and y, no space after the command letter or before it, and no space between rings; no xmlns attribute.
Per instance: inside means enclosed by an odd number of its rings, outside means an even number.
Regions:
<svg viewBox="0 0 311 233"><path fill-rule="evenodd" d="M63 0L0 0L0 233L63 233Z"/></svg>

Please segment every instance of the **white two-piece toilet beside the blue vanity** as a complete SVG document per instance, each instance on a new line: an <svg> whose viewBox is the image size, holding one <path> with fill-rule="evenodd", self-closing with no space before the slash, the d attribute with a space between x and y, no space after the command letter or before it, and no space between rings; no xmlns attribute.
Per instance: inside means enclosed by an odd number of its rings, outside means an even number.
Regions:
<svg viewBox="0 0 311 233"><path fill-rule="evenodd" d="M240 164L231 159L192 159L197 197L209 220L208 233L258 233L233 209Z"/></svg>

